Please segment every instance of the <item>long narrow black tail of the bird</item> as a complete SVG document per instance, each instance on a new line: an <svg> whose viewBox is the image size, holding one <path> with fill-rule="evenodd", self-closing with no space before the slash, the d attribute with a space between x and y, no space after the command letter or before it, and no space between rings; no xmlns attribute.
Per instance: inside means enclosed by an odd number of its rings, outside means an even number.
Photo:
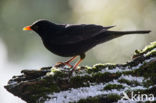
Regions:
<svg viewBox="0 0 156 103"><path fill-rule="evenodd" d="M119 34L119 35L125 35L125 34L148 34L151 31L150 30L140 30L140 31L109 31L111 34Z"/></svg>

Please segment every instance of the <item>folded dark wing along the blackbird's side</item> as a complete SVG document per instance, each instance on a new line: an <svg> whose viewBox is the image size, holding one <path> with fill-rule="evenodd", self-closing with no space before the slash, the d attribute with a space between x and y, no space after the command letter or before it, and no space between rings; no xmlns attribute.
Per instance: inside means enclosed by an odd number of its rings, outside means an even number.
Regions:
<svg viewBox="0 0 156 103"><path fill-rule="evenodd" d="M65 29L59 31L54 38L57 44L72 44L90 39L100 32L104 32L113 26L103 27L94 24L81 24L81 25L65 25Z"/></svg>

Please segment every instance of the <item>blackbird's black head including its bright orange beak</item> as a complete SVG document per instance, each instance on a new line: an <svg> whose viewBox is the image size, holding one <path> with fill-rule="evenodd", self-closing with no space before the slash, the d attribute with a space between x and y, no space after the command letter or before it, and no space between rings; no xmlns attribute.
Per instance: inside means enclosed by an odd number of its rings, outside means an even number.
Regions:
<svg viewBox="0 0 156 103"><path fill-rule="evenodd" d="M35 21L32 25L26 26L23 30L33 30L38 33L41 37L45 35L51 35L56 32L57 25L48 21L48 20L38 20Z"/></svg>

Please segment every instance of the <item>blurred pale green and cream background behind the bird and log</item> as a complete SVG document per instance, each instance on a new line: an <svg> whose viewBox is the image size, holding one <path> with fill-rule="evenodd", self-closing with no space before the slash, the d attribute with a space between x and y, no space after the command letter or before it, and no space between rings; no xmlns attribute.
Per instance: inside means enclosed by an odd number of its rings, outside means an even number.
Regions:
<svg viewBox="0 0 156 103"><path fill-rule="evenodd" d="M87 52L81 65L124 63L131 60L136 49L156 40L156 0L0 0L1 103L24 103L3 88L20 70L39 69L67 59L46 50L35 32L22 30L38 19L115 25L112 30L152 30L149 35L127 35L100 44Z"/></svg>

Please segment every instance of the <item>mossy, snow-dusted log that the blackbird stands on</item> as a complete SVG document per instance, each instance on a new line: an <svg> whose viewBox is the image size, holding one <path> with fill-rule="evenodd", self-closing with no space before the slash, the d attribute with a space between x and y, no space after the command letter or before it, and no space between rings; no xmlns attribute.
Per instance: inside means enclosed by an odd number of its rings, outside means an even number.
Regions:
<svg viewBox="0 0 156 103"><path fill-rule="evenodd" d="M136 50L125 64L96 64L73 72L66 67L23 70L5 88L28 103L111 103L122 92L156 95L156 42Z"/></svg>

